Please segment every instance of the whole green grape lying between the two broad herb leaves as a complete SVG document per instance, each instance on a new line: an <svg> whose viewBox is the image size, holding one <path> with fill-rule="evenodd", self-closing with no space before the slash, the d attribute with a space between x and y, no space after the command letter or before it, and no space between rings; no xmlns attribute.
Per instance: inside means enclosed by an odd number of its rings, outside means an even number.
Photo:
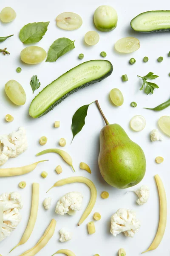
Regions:
<svg viewBox="0 0 170 256"><path fill-rule="evenodd" d="M27 64L38 64L45 60L47 53L38 46L28 46L21 51L21 60Z"/></svg>

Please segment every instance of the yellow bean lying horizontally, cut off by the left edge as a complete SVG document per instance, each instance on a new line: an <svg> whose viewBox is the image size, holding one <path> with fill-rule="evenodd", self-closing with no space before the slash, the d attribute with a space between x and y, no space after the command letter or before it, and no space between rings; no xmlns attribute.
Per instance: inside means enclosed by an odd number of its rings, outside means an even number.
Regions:
<svg viewBox="0 0 170 256"><path fill-rule="evenodd" d="M0 177L10 177L10 176L17 176L17 175L23 175L28 172L33 171L38 163L42 163L48 160L42 160L36 163L32 163L28 166L23 167L14 167L14 168L6 168L6 169L0 169Z"/></svg>

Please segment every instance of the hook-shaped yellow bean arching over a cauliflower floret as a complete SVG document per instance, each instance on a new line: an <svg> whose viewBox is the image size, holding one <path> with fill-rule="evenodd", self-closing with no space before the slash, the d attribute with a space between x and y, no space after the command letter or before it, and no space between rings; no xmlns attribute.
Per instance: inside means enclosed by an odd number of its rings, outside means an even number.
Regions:
<svg viewBox="0 0 170 256"><path fill-rule="evenodd" d="M89 188L91 189L91 200L88 204L88 207L85 209L85 212L83 213L81 219L79 220L78 226L80 224L83 223L83 221L85 221L85 219L88 217L88 215L91 213L95 203L96 203L96 197L97 197L97 190L96 190L96 186L94 185L94 183L89 180L88 178L82 177L82 176L77 176L77 177L69 177L66 179L62 179L62 180L58 180L54 186L52 186L50 189L57 187L57 186L63 186L65 184L70 184L70 183L74 183L74 182L82 182L85 183L86 185L89 186ZM49 190L50 190L49 189ZM49 191L48 190L48 191ZM47 192L48 192L47 191Z"/></svg>

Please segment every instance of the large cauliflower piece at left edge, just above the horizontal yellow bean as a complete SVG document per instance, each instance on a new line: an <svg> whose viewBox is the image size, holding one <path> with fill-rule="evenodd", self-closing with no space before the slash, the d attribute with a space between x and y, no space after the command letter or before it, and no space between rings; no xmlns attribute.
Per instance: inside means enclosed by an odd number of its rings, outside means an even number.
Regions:
<svg viewBox="0 0 170 256"><path fill-rule="evenodd" d="M9 157L17 157L27 147L26 130L23 127L9 135L0 135L0 165L6 163Z"/></svg>

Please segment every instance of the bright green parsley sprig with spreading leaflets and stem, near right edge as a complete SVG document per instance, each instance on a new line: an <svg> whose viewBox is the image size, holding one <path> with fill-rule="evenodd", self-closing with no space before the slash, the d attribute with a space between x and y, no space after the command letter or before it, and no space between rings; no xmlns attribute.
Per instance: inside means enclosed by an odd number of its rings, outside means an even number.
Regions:
<svg viewBox="0 0 170 256"><path fill-rule="evenodd" d="M157 84L147 81L147 79L153 80L153 79L156 79L157 77L159 77L159 76L153 75L153 72L149 72L146 76L138 76L138 77L142 78L142 80L143 80L143 84L142 84L142 87L140 88L140 90L143 90L145 87L144 92L146 94L149 94L149 93L153 94L153 90L155 88L159 88L159 86Z"/></svg>

